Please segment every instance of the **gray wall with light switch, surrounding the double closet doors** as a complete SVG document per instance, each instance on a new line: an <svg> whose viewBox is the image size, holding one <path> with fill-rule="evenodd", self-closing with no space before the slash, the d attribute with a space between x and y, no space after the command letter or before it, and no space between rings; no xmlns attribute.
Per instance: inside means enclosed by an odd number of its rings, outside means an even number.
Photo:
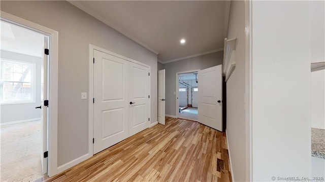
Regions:
<svg viewBox="0 0 325 182"><path fill-rule="evenodd" d="M88 153L89 44L151 66L157 55L66 1L1 1L1 10L59 32L58 165ZM157 121L157 74L151 74L151 122Z"/></svg>

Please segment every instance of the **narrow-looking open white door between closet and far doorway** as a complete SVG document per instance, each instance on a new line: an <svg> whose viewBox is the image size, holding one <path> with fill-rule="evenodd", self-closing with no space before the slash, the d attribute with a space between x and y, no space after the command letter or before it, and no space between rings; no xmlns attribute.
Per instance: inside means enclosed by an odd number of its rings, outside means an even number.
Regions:
<svg viewBox="0 0 325 182"><path fill-rule="evenodd" d="M158 123L165 125L165 69L158 71Z"/></svg>

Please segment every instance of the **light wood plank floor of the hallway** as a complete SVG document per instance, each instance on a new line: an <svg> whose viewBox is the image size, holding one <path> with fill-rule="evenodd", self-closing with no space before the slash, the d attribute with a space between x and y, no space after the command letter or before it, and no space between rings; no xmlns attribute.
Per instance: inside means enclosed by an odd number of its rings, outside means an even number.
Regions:
<svg viewBox="0 0 325 182"><path fill-rule="evenodd" d="M232 181L229 166L225 133L166 118L43 181Z"/></svg>

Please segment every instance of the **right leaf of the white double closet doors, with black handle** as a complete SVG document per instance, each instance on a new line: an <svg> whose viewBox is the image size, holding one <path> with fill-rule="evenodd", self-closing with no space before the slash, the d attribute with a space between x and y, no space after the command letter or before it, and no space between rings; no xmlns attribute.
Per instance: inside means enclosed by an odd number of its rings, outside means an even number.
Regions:
<svg viewBox="0 0 325 182"><path fill-rule="evenodd" d="M149 68L129 62L129 136L149 127Z"/></svg>

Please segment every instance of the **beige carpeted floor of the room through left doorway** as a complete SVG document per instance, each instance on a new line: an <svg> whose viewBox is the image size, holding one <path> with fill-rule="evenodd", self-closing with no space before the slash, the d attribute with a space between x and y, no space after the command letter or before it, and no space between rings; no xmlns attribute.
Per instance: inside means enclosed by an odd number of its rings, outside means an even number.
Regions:
<svg viewBox="0 0 325 182"><path fill-rule="evenodd" d="M1 126L1 181L34 181L43 176L41 121Z"/></svg>

